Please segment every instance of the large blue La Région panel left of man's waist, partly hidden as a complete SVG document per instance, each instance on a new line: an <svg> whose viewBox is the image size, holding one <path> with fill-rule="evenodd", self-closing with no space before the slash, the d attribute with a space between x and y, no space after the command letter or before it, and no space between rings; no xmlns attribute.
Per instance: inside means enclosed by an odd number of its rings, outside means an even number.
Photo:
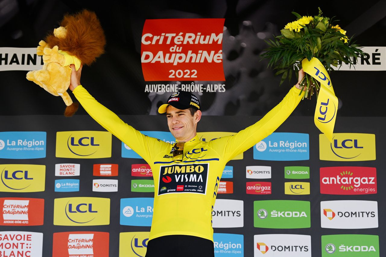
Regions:
<svg viewBox="0 0 386 257"><path fill-rule="evenodd" d="M120 225L151 226L154 198L122 198Z"/></svg>

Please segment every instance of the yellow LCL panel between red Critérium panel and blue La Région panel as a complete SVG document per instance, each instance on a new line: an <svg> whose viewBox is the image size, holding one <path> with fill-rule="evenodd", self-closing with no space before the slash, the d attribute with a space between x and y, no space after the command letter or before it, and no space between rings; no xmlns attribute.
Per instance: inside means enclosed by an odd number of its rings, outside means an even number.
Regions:
<svg viewBox="0 0 386 257"><path fill-rule="evenodd" d="M93 226L110 224L110 199L97 197L56 198L54 225Z"/></svg>

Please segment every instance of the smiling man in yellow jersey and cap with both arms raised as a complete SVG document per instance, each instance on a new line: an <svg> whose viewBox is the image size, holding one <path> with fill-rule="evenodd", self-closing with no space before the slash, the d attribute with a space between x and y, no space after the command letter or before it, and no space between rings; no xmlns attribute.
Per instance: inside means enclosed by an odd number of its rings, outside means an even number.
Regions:
<svg viewBox="0 0 386 257"><path fill-rule="evenodd" d="M73 68L73 67L72 67ZM196 135L200 102L191 93L174 92L159 107L176 138L172 145L148 137L98 103L80 85L81 68L72 69L70 89L86 112L150 166L154 178L154 213L146 257L213 257L212 210L225 164L270 135L301 100L297 83L255 124L210 142ZM299 71L299 81L304 77Z"/></svg>

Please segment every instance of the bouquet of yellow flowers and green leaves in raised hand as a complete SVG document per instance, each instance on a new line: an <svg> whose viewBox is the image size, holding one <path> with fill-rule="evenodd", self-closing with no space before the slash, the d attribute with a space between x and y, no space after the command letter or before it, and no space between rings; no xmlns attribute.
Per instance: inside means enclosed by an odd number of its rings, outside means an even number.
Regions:
<svg viewBox="0 0 386 257"><path fill-rule="evenodd" d="M298 19L289 22L284 29L280 30L281 35L274 40L266 41L270 47L261 54L261 57L269 59L268 67L278 70L275 75L282 74L280 85L286 78L291 80L292 73L295 72L294 67L300 69L302 60L311 61L315 57L324 69L330 71L331 66L338 67L342 62L351 66L353 64L351 57L364 56L361 47L346 36L346 31L339 25L332 25L336 21L323 17L322 11L318 9L319 14L314 17L302 17L292 12ZM306 70L305 72L306 76L300 85L303 86L303 89L306 87L303 98L310 99L315 93L318 96L321 85L316 76L308 74ZM297 71L295 75L298 76ZM324 80L323 76L322 80ZM329 78L328 85L330 85Z"/></svg>

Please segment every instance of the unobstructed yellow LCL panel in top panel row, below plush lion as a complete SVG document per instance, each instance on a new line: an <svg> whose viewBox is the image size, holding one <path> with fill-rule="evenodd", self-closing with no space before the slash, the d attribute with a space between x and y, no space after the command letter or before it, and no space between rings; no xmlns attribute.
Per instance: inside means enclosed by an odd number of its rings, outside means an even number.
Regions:
<svg viewBox="0 0 386 257"><path fill-rule="evenodd" d="M111 133L105 131L56 132L56 157L107 158L111 157Z"/></svg>

